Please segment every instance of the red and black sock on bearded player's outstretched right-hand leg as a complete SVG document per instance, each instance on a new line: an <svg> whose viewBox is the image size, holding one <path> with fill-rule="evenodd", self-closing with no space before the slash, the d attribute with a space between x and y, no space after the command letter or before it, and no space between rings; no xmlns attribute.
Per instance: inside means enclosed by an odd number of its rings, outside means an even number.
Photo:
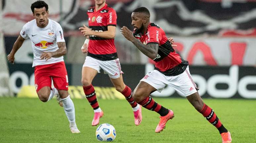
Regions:
<svg viewBox="0 0 256 143"><path fill-rule="evenodd" d="M217 115L214 113L213 109L208 107L206 104L203 105L202 110L200 113L208 120L213 126L216 128L221 127L221 121L217 117Z"/></svg>

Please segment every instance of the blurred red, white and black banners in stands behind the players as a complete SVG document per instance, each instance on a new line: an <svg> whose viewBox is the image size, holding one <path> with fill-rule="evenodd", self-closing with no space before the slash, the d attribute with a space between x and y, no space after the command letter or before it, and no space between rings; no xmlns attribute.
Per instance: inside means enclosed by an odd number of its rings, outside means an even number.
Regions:
<svg viewBox="0 0 256 143"><path fill-rule="evenodd" d="M80 47L85 38L78 28L87 25L86 12L94 5L94 0L62 0L62 5L60 0L45 1L49 5L49 18L60 22L64 29L68 48L66 62L83 63L85 55L81 54ZM8 54L22 26L33 19L30 5L34 0L2 2ZM149 61L119 32L122 26L132 29L131 13L141 6L149 9L151 22L174 37L178 45L176 51L191 65L252 66L256 63L254 0L107 0L107 4L117 12L115 45L121 63ZM30 41L25 41L21 49L17 53L17 62L31 63Z"/></svg>

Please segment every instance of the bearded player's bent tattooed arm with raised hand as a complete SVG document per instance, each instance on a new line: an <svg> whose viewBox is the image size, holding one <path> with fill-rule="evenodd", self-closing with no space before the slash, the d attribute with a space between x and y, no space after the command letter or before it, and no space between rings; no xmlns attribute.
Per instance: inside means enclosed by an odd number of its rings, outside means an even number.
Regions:
<svg viewBox="0 0 256 143"><path fill-rule="evenodd" d="M155 43L149 43L144 45L140 40L133 36L133 33L125 26L120 30L121 34L129 41L131 41L143 54L150 59L154 59L157 55L159 45Z"/></svg>

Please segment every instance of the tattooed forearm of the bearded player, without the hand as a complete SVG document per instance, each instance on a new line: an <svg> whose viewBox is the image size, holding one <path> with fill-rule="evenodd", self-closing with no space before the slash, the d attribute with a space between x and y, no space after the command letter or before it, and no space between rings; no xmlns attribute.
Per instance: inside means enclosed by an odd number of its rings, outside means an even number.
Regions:
<svg viewBox="0 0 256 143"><path fill-rule="evenodd" d="M148 56L150 59L154 59L157 55L159 45L158 44L148 44L144 45L141 41L138 39L134 39L132 43L146 56Z"/></svg>

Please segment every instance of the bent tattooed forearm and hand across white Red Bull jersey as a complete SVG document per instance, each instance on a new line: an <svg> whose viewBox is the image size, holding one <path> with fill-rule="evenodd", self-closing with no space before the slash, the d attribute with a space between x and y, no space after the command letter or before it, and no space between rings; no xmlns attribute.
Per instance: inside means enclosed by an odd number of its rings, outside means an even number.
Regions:
<svg viewBox="0 0 256 143"><path fill-rule="evenodd" d="M66 55L67 53L67 48L66 48L66 43L65 42L57 42L59 49L55 52L44 52L41 55L41 60L45 59L46 61L49 60L50 58L58 58L61 56Z"/></svg>

